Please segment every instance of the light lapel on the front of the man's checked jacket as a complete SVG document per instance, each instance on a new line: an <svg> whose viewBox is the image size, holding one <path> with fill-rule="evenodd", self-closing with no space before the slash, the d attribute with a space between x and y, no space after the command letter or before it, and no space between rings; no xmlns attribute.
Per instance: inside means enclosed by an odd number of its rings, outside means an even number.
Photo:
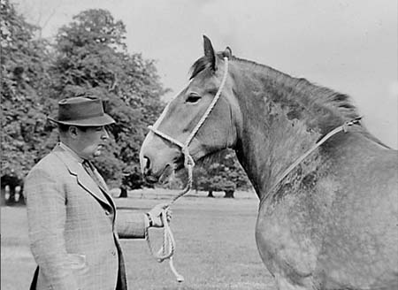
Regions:
<svg viewBox="0 0 398 290"><path fill-rule="evenodd" d="M76 177L78 184L80 187L83 187L90 195L93 195L96 200L102 202L108 207L111 207L114 210L114 204L110 204L111 198L103 198L103 195L108 195L106 189L101 193L101 189L97 186L96 182L88 175L88 172L83 168L83 166L76 160L74 156L71 156L69 152L61 147L57 146L53 149L53 153L57 155L62 162L68 168L68 171ZM99 175L98 173L96 173ZM103 180L103 179L102 179ZM103 182L104 183L104 182ZM111 202L113 203L113 202Z"/></svg>

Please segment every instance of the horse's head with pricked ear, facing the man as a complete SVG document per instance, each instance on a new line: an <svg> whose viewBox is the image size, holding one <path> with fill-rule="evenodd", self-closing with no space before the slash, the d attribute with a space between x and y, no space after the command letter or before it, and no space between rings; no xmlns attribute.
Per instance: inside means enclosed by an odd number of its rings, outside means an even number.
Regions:
<svg viewBox="0 0 398 290"><path fill-rule="evenodd" d="M231 148L237 141L241 113L226 65L232 57L231 50L215 53L210 40L206 36L203 40L204 56L193 65L188 87L167 105L142 144L142 172L149 181L156 182L184 166L180 148L183 145L188 145L189 154L198 160L220 149ZM203 116L206 116L203 125L197 128Z"/></svg>

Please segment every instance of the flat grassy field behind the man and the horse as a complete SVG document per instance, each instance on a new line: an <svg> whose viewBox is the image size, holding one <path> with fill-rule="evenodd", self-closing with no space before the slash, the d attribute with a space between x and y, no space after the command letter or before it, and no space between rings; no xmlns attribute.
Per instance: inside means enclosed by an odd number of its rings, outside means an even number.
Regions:
<svg viewBox="0 0 398 290"><path fill-rule="evenodd" d="M176 192L132 191L115 199L119 210L149 210L167 202ZM257 199L238 192L234 199L205 193L182 197L172 206L172 232L176 240L174 265L185 278L175 281L168 263L150 256L145 240L122 240L130 289L274 289L273 279L256 249L254 228ZM1 288L27 289L34 260L27 240L25 207L2 207ZM160 245L159 230L150 238Z"/></svg>

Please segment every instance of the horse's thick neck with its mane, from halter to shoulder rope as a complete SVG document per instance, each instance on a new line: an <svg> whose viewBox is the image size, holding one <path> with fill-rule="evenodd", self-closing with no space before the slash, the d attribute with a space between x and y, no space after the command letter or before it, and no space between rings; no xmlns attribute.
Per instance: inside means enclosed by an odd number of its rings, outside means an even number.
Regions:
<svg viewBox="0 0 398 290"><path fill-rule="evenodd" d="M237 156L260 198L321 135L358 117L347 95L244 60L230 67L242 116ZM333 142L328 150L311 153L300 166L302 176L317 171L322 159L333 157L333 149L342 150L341 146L356 147L360 142L386 149L364 127L356 127L356 132L361 133L356 134L360 141L347 144L343 141L347 136L333 137L334 141L328 141Z"/></svg>

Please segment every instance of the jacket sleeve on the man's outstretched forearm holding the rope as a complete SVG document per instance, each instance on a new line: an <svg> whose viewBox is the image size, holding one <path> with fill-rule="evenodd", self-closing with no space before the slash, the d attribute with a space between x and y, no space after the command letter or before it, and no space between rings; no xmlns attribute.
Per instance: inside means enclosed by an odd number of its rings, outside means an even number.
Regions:
<svg viewBox="0 0 398 290"><path fill-rule="evenodd" d="M118 210L116 229L121 239L145 238L145 215L133 210Z"/></svg>

